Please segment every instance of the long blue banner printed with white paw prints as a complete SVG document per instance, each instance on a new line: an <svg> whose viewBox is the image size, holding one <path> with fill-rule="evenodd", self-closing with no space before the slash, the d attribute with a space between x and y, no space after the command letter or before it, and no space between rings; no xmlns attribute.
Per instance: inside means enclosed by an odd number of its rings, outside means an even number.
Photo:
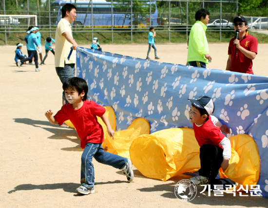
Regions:
<svg viewBox="0 0 268 208"><path fill-rule="evenodd" d="M261 194L268 197L268 77L204 69L77 48L77 76L89 86L88 97L112 106L117 131L136 117L151 132L190 127L188 98L210 96L214 116L231 134L247 133L258 146Z"/></svg>

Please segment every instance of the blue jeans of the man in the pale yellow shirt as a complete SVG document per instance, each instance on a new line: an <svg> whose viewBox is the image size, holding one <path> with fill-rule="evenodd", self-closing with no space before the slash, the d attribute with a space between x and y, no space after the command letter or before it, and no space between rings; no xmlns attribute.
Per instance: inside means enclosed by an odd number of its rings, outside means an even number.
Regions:
<svg viewBox="0 0 268 208"><path fill-rule="evenodd" d="M63 84L67 79L76 76L76 67L75 64L65 64L64 67L56 67L57 76L59 77L61 83ZM62 92L62 99L65 99L65 102L68 101L65 98L64 91Z"/></svg>

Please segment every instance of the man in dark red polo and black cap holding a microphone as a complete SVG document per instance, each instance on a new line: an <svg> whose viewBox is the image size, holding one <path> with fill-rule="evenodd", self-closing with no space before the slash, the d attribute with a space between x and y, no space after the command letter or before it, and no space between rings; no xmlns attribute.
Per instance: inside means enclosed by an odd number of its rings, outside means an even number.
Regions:
<svg viewBox="0 0 268 208"><path fill-rule="evenodd" d="M248 22L244 17L233 19L234 30L239 30L238 38L229 42L226 70L253 75L252 60L258 52L258 41L248 34Z"/></svg>

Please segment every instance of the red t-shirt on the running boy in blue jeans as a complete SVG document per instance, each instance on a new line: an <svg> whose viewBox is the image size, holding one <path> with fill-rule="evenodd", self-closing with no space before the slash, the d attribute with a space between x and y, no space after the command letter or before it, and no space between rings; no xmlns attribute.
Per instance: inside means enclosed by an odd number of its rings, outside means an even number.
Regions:
<svg viewBox="0 0 268 208"><path fill-rule="evenodd" d="M59 125L70 119L80 137L81 148L84 149L87 143L103 142L103 129L96 116L102 116L105 111L104 107L93 100L86 100L78 110L74 110L70 103L63 105L54 117Z"/></svg>

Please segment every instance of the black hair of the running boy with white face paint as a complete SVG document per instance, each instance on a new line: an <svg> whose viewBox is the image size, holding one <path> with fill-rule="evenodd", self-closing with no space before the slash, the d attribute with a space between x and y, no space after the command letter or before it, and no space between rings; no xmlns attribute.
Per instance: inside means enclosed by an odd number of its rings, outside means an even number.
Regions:
<svg viewBox="0 0 268 208"><path fill-rule="evenodd" d="M76 89L78 92L78 95L80 95L84 91L85 96L83 96L82 100L87 100L88 84L87 84L86 80L84 80L80 77L69 78L63 83L62 89L63 89L63 91L65 91L69 88Z"/></svg>

